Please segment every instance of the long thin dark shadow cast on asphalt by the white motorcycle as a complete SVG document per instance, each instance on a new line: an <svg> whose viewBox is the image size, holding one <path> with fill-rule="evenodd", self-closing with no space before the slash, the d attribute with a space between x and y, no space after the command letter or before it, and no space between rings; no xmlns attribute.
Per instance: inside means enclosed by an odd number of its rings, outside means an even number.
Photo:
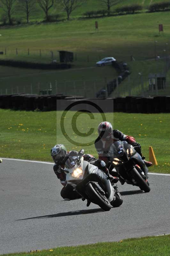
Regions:
<svg viewBox="0 0 170 256"><path fill-rule="evenodd" d="M72 215L81 215L81 214L97 213L97 212L104 212L104 210L102 210L102 209L100 209L100 208L97 208L97 209L89 209L89 210L81 210L81 211L72 211L72 212L60 212L60 213L57 213L57 214L36 216L36 217L31 217L31 218L26 218L26 219L19 219L19 220L57 218L57 217L65 217L65 216L72 216Z"/></svg>

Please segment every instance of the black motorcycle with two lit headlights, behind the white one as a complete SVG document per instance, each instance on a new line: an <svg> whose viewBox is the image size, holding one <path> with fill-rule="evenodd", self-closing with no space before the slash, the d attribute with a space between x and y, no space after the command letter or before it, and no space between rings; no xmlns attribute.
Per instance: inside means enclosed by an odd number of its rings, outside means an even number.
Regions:
<svg viewBox="0 0 170 256"><path fill-rule="evenodd" d="M110 158L108 169L113 168L119 174L122 184L125 182L133 186L138 186L141 190L149 192L151 188L148 182L148 168L143 159L135 150L135 147L126 141L114 142L109 151Z"/></svg>

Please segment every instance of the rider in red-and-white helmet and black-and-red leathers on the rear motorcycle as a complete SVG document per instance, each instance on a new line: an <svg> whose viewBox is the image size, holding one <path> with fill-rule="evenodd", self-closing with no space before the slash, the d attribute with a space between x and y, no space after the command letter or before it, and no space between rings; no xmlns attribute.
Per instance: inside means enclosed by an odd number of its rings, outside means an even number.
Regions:
<svg viewBox="0 0 170 256"><path fill-rule="evenodd" d="M119 130L113 130L112 124L109 122L102 122L98 126L98 137L95 140L95 147L99 156L99 159L103 160L106 164L109 161L109 157L106 156L106 153L112 143L118 140L125 140L142 156L141 145L137 143L132 136L128 136L120 132ZM144 160L147 167L152 165L151 162Z"/></svg>

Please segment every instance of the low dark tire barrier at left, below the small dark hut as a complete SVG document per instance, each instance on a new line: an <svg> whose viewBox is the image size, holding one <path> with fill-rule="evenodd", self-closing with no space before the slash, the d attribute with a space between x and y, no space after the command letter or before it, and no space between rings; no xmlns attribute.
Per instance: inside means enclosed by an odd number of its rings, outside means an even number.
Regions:
<svg viewBox="0 0 170 256"><path fill-rule="evenodd" d="M64 69L71 68L70 63L35 63L18 60L0 60L0 65L19 68L38 68L38 69Z"/></svg>

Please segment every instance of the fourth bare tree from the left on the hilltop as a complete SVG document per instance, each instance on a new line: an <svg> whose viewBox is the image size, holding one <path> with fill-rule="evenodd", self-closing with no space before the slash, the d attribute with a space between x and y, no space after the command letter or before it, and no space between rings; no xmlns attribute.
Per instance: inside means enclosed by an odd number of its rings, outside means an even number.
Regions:
<svg viewBox="0 0 170 256"><path fill-rule="evenodd" d="M70 14L80 7L86 0L58 0L63 10L67 13L67 20L70 19Z"/></svg>

